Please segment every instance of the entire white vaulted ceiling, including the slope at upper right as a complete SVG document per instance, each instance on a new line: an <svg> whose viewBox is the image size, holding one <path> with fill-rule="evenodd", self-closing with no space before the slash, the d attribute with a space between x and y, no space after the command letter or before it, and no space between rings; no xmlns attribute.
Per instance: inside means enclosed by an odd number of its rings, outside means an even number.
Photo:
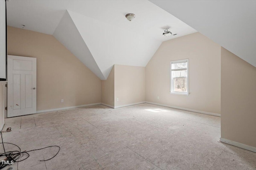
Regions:
<svg viewBox="0 0 256 170"><path fill-rule="evenodd" d="M163 41L196 30L256 66L256 1L150 1L10 0L7 24L53 35L102 80L114 64L146 66ZM177 35L164 37L167 27Z"/></svg>

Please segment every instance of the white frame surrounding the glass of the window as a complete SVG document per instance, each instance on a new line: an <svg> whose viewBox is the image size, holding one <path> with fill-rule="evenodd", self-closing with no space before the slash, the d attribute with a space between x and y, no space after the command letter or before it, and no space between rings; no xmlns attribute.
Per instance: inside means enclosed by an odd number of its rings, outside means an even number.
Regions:
<svg viewBox="0 0 256 170"><path fill-rule="evenodd" d="M174 92L173 90L173 78L172 78L172 64L174 63L184 63L184 62L187 62L187 92ZM188 96L189 95L189 63L188 63L188 59L184 59L184 60L176 60L176 61L171 61L170 62L170 78L171 78L171 86L170 86L170 93L171 94L180 94L180 95L186 95Z"/></svg>

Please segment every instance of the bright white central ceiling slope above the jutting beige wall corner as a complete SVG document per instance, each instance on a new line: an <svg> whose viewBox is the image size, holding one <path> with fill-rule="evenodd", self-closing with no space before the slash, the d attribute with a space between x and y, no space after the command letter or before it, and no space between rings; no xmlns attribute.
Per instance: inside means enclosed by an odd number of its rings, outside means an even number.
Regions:
<svg viewBox="0 0 256 170"><path fill-rule="evenodd" d="M146 66L162 43L152 36L124 29L122 25L110 25L71 11L68 13L105 78L114 64Z"/></svg>

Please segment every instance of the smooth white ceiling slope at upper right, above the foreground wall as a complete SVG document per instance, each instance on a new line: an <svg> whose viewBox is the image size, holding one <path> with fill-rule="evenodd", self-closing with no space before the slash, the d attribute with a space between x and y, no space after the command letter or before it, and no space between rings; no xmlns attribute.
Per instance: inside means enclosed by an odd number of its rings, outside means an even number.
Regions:
<svg viewBox="0 0 256 170"><path fill-rule="evenodd" d="M255 0L150 0L256 67Z"/></svg>

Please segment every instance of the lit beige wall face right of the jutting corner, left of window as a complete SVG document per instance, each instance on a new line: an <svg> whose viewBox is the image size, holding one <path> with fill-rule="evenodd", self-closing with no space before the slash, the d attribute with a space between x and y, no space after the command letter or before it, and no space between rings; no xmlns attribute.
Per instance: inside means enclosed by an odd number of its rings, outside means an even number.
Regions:
<svg viewBox="0 0 256 170"><path fill-rule="evenodd" d="M145 102L145 67L118 64L114 66L115 106Z"/></svg>

